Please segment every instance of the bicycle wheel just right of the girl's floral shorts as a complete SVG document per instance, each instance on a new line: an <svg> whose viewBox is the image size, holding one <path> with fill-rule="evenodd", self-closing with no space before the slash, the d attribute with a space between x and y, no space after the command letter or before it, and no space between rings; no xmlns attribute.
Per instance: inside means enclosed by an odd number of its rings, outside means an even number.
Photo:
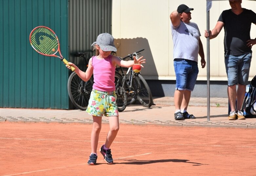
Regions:
<svg viewBox="0 0 256 176"><path fill-rule="evenodd" d="M127 94L124 92L124 88L122 88L122 76L116 72L115 73L115 87L116 87L116 104L119 112L125 110L127 106Z"/></svg>

